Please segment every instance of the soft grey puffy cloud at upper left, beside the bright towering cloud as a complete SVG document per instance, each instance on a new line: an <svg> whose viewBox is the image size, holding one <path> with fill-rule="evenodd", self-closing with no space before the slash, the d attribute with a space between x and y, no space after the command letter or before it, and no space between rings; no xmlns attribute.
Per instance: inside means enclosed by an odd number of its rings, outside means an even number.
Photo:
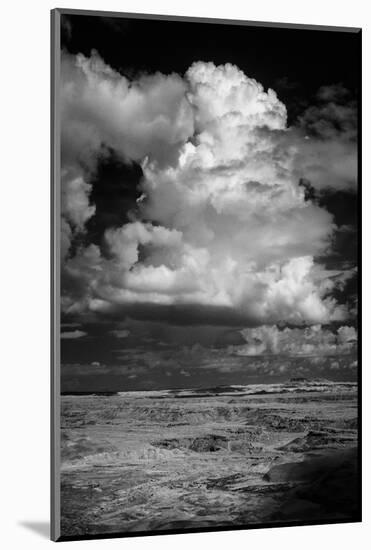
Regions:
<svg viewBox="0 0 371 550"><path fill-rule="evenodd" d="M63 54L61 72L64 162L94 164L103 145L126 159L168 162L193 134L186 84L177 74L129 81L95 52Z"/></svg>

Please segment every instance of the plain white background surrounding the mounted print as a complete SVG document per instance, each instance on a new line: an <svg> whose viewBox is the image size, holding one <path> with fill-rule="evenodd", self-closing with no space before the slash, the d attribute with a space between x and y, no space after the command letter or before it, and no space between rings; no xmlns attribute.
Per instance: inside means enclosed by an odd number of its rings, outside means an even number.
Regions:
<svg viewBox="0 0 371 550"><path fill-rule="evenodd" d="M363 27L364 312L369 310L370 32L365 0L6 0L1 7L1 396L0 544L40 548L49 519L49 10L105 9ZM253 55L253 52L252 52ZM311 69L312 70L312 69ZM4 124L5 120L5 124ZM368 218L368 219L367 219ZM5 309L4 309L5 303ZM366 315L364 316L366 317ZM368 316L367 316L368 317ZM159 550L190 545L285 550L366 548L370 528L368 319L364 318L364 523L70 542L73 548ZM368 494L367 494L368 493ZM33 527L29 524L33 524ZM40 533L41 531L41 533ZM44 534L43 534L44 533ZM367 539L369 539L367 541ZM367 544L368 542L368 544ZM369 547L369 546L368 546Z"/></svg>

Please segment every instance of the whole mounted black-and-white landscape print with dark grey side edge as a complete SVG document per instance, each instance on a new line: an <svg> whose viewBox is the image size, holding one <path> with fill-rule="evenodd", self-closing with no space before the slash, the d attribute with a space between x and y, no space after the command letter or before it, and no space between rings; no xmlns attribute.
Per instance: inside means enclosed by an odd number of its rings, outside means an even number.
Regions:
<svg viewBox="0 0 371 550"><path fill-rule="evenodd" d="M355 522L361 31L52 12L52 538Z"/></svg>

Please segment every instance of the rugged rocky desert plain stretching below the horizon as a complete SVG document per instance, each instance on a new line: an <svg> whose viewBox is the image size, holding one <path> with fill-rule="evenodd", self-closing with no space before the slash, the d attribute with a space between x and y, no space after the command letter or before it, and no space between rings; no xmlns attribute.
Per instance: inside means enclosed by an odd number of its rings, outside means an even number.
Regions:
<svg viewBox="0 0 371 550"><path fill-rule="evenodd" d="M62 397L62 536L359 519L355 387Z"/></svg>

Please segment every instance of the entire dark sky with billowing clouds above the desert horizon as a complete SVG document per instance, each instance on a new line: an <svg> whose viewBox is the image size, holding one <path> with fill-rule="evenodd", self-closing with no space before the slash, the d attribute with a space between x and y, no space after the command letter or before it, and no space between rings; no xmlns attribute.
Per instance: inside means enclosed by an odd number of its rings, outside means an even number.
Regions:
<svg viewBox="0 0 371 550"><path fill-rule="evenodd" d="M62 17L68 387L353 375L358 48Z"/></svg>

